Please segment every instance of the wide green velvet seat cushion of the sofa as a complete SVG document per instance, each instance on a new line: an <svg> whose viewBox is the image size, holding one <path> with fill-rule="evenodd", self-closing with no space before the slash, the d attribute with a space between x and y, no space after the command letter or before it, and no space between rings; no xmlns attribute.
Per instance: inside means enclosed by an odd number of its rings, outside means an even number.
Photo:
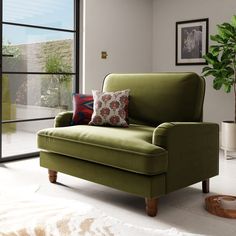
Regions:
<svg viewBox="0 0 236 236"><path fill-rule="evenodd" d="M167 151L152 144L153 127L129 128L77 125L39 131L38 147L146 175L167 170Z"/></svg>

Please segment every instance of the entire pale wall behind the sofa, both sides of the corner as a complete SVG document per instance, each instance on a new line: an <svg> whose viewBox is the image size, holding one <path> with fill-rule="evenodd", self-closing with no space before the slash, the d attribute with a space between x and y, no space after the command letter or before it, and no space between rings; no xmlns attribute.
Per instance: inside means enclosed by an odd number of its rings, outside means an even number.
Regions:
<svg viewBox="0 0 236 236"><path fill-rule="evenodd" d="M209 33L235 14L235 0L84 0L83 92L101 89L112 72L194 71L175 66L175 22L209 18ZM101 51L108 58L101 59ZM234 117L233 94L215 91L206 80L204 121Z"/></svg>

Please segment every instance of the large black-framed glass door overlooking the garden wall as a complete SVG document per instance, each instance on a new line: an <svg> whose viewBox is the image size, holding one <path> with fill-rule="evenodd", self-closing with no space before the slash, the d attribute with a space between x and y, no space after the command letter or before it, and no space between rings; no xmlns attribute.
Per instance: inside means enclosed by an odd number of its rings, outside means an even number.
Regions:
<svg viewBox="0 0 236 236"><path fill-rule="evenodd" d="M1 0L1 157L38 155L36 133L72 109L79 0Z"/></svg>

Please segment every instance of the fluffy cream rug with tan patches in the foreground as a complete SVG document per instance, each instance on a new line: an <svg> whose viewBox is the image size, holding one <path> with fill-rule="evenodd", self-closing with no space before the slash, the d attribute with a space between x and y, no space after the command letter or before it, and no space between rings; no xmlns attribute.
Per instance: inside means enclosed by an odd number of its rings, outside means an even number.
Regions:
<svg viewBox="0 0 236 236"><path fill-rule="evenodd" d="M78 201L0 195L0 236L193 236L133 226Z"/></svg>

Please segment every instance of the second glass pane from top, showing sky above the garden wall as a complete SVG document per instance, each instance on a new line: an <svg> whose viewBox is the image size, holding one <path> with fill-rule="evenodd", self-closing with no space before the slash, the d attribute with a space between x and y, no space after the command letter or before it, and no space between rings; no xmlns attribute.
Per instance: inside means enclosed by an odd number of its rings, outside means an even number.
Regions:
<svg viewBox="0 0 236 236"><path fill-rule="evenodd" d="M3 71L74 72L73 52L74 33L3 25Z"/></svg>

